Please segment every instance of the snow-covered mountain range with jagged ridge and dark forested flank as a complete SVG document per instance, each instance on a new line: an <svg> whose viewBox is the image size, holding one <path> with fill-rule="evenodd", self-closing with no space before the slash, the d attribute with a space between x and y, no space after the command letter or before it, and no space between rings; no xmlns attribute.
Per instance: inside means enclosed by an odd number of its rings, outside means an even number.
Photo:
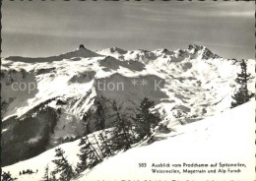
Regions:
<svg viewBox="0 0 256 181"><path fill-rule="evenodd" d="M254 72L254 60L247 63ZM130 112L147 96L172 126L221 113L238 89L238 72L239 61L200 45L96 52L80 46L59 56L3 58L2 165L95 132L96 115L103 109L100 95ZM253 83L249 89L253 91ZM102 127L111 127L111 122L106 119Z"/></svg>

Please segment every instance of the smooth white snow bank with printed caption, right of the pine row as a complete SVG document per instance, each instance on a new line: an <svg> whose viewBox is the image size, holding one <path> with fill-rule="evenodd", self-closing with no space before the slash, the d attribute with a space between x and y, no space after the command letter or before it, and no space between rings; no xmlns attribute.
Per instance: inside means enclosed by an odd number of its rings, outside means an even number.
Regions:
<svg viewBox="0 0 256 181"><path fill-rule="evenodd" d="M254 180L254 103L251 101L203 121L177 126L174 132L156 136L155 140L162 141L119 153L75 180ZM146 163L147 167L139 167L139 163ZM169 163L170 167L155 167L153 163ZM184 163L194 165L185 167ZM240 165L221 167L220 163ZM182 167L172 167L172 164ZM195 164L209 167L195 167ZM153 173L153 169L179 170L180 173ZM183 169L188 172L184 173ZM202 169L206 173L193 173ZM208 173L215 169L221 172ZM231 170L238 172L230 173Z"/></svg>

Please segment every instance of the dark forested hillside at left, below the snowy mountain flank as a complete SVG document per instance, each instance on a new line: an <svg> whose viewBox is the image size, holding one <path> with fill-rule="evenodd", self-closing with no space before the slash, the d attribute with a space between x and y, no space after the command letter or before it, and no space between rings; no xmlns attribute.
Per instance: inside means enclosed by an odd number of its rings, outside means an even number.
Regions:
<svg viewBox="0 0 256 181"><path fill-rule="evenodd" d="M36 116L33 116L34 113L29 111L23 118L14 118L14 124L6 127L8 131L2 135L2 166L31 158L46 150L58 114L46 105L36 112ZM28 142L34 137L38 137L38 140Z"/></svg>

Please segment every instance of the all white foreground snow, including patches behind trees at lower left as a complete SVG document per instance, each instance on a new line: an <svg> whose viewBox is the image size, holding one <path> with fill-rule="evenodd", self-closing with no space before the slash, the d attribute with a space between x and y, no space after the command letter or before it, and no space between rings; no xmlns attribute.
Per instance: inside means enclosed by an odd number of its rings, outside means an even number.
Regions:
<svg viewBox="0 0 256 181"><path fill-rule="evenodd" d="M158 133L154 143L142 143L140 147L104 160L91 170L86 170L74 180L253 180L254 179L254 110L255 101L250 101L236 108L202 121L184 126L171 126L168 134ZM92 135L90 135L92 137ZM77 153L79 141L60 145L66 151L70 163L78 161ZM39 181L43 176L43 169L54 158L54 149L45 151L36 157L3 167L18 177L18 181ZM146 168L139 168L140 162L146 162ZM154 174L151 171L152 163L243 163L242 174ZM38 173L19 176L23 169L38 169ZM182 169L181 169L182 170Z"/></svg>

